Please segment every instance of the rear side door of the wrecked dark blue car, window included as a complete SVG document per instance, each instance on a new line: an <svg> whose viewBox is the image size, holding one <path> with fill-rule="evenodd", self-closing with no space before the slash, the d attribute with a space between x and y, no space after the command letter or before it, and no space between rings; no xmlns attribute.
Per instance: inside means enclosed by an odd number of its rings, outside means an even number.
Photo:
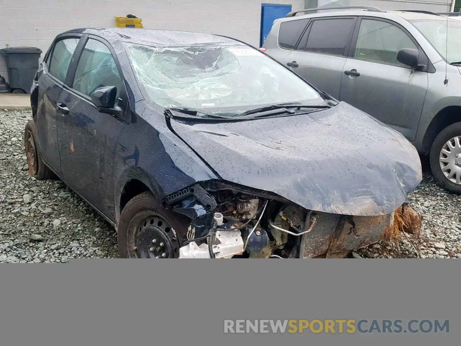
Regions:
<svg viewBox="0 0 461 346"><path fill-rule="evenodd" d="M56 107L79 40L79 36L58 37L43 62L43 72L37 82L37 141L45 162L58 175L61 175L61 160L58 150Z"/></svg>

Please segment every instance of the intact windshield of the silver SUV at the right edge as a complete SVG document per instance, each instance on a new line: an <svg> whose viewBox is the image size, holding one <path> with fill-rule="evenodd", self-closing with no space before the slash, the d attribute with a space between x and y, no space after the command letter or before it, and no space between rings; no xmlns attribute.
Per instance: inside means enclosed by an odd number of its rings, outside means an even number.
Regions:
<svg viewBox="0 0 461 346"><path fill-rule="evenodd" d="M412 20L411 23L420 30L421 34L431 42L432 46L449 64L461 61L461 21L449 19L448 30L446 19Z"/></svg>

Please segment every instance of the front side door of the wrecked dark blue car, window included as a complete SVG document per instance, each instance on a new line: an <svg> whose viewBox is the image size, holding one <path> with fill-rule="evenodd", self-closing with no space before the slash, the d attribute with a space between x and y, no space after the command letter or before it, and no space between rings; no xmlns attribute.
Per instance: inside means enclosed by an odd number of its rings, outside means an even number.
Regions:
<svg viewBox="0 0 461 346"><path fill-rule="evenodd" d="M89 36L73 66L71 88L58 105L58 143L65 182L110 220L115 220L113 161L125 124L128 97L112 47ZM117 88L118 117L100 113L91 101L95 89Z"/></svg>

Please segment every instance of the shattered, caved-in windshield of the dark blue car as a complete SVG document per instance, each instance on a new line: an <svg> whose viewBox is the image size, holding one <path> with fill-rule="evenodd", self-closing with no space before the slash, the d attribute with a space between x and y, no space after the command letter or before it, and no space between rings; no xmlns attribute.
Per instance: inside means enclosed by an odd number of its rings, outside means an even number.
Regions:
<svg viewBox="0 0 461 346"><path fill-rule="evenodd" d="M136 78L162 107L232 116L259 105L324 102L301 78L248 46L126 47Z"/></svg>

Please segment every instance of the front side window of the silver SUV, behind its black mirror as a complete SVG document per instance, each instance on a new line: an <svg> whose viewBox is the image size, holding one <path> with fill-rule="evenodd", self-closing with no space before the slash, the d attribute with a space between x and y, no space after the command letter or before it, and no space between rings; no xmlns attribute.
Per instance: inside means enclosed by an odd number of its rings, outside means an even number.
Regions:
<svg viewBox="0 0 461 346"><path fill-rule="evenodd" d="M397 53L402 48L418 49L411 38L396 25L381 20L362 19L355 58L405 66L397 61Z"/></svg>

